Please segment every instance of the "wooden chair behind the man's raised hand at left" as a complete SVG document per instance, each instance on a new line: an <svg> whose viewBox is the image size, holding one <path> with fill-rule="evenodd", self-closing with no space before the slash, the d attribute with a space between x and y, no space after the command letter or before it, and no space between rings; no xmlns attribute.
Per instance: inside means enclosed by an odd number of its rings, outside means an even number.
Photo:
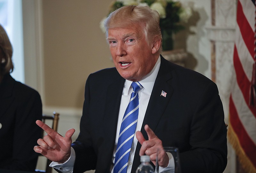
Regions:
<svg viewBox="0 0 256 173"><path fill-rule="evenodd" d="M52 129L55 130L57 132L57 129L58 129L58 123L59 123L59 116L60 114L59 113L56 113L56 112L53 112L53 115L45 115L43 114L42 116L42 121L44 123L46 123L47 120L52 120ZM44 131L42 130L42 138L44 137ZM41 154L39 156L42 156ZM49 166L49 164L51 163L52 161L47 159L47 162L46 162L46 169L45 170L39 170L39 169L36 169L36 172L46 172L46 173L52 173L52 167Z"/></svg>

